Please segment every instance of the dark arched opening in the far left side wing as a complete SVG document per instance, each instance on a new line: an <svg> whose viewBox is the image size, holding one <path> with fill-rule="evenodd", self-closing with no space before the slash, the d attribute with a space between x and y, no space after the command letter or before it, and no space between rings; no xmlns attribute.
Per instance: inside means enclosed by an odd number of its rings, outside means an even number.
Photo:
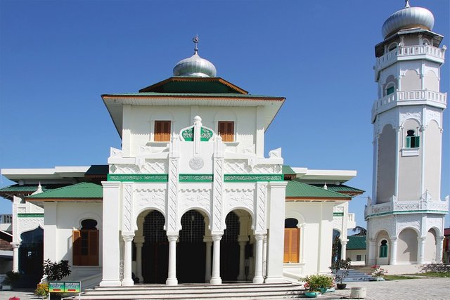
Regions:
<svg viewBox="0 0 450 300"><path fill-rule="evenodd" d="M44 262L44 230L40 227L22 233L19 247L19 272L22 279L18 287L36 287L42 278Z"/></svg>

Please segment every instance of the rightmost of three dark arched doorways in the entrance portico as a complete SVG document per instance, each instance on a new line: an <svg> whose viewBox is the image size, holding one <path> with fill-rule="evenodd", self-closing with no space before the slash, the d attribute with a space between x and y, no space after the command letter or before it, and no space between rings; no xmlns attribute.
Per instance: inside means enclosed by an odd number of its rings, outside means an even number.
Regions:
<svg viewBox="0 0 450 300"><path fill-rule="evenodd" d="M239 275L239 217L231 211L225 218L226 229L220 240L220 277L236 281Z"/></svg>

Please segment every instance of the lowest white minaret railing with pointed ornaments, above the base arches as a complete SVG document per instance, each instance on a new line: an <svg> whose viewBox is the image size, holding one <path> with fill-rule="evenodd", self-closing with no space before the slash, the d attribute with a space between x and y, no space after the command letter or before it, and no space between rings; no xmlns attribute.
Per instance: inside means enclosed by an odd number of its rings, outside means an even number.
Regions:
<svg viewBox="0 0 450 300"><path fill-rule="evenodd" d="M430 199L430 194L425 193L419 200L398 201L397 197L392 196L389 202L373 204L369 198L364 209L364 218L372 216L384 216L387 214L446 214L449 211L449 196L443 201Z"/></svg>

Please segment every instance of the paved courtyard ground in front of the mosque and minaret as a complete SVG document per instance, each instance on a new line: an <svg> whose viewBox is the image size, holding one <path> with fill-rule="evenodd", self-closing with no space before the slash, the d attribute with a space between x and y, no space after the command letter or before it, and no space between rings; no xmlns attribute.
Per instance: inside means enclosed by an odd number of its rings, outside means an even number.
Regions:
<svg viewBox="0 0 450 300"><path fill-rule="evenodd" d="M345 290L322 295L319 299L350 299L351 287L366 287L366 299L373 300L425 300L450 299L450 278L420 278L378 282L349 282ZM0 291L0 299L16 296L20 300L39 299L32 290Z"/></svg>

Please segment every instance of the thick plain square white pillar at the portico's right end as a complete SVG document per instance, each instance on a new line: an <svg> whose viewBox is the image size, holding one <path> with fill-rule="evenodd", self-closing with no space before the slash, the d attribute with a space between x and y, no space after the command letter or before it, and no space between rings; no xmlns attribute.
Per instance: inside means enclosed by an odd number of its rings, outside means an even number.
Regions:
<svg viewBox="0 0 450 300"><path fill-rule="evenodd" d="M285 282L283 278L283 253L284 253L284 216L285 216L285 190L286 181L272 181L269 183L269 204L267 205L270 216L269 235L267 239L267 283Z"/></svg>

